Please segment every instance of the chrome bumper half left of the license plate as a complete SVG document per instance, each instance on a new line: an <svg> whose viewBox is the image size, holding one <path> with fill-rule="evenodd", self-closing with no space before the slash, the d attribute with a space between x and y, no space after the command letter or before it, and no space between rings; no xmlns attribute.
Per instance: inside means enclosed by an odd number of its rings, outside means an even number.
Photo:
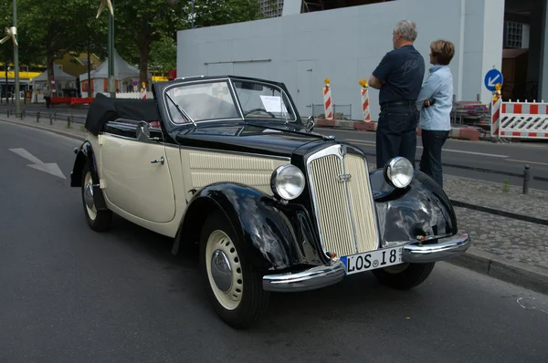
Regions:
<svg viewBox="0 0 548 363"><path fill-rule="evenodd" d="M338 261L297 273L265 275L263 289L279 293L314 290L341 282L345 274L344 264Z"/></svg>

